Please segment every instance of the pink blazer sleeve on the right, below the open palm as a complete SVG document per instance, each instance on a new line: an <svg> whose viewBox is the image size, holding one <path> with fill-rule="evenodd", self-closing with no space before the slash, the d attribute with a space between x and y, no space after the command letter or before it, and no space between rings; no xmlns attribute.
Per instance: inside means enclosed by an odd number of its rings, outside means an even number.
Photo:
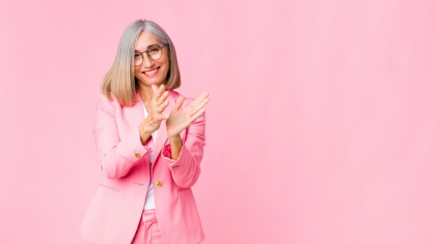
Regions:
<svg viewBox="0 0 436 244"><path fill-rule="evenodd" d="M200 176L200 162L205 146L206 118L203 112L187 127L185 142L176 161L171 159L171 145L167 141L162 148L161 156L169 166L173 181L182 188L194 186Z"/></svg>

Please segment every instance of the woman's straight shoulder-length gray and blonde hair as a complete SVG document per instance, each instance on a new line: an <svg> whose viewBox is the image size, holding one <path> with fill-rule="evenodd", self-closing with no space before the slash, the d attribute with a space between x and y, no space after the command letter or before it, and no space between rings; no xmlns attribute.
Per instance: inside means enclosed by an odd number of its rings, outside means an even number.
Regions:
<svg viewBox="0 0 436 244"><path fill-rule="evenodd" d="M169 70L164 83L167 89L180 87L180 71L178 69L176 49L164 29L155 22L138 19L125 29L118 44L118 51L112 67L104 76L101 90L111 100L111 93L123 106L132 106L138 83L134 77L134 44L142 31L149 31L162 44L169 47Z"/></svg>

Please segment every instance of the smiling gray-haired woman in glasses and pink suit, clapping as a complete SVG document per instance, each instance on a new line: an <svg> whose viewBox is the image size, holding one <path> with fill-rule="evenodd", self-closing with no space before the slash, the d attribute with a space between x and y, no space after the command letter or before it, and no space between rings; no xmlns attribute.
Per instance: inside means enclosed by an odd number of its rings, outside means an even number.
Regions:
<svg viewBox="0 0 436 244"><path fill-rule="evenodd" d="M102 177L82 220L91 243L201 243L191 187L200 174L209 93L183 97L176 50L154 22L124 31L102 82L93 134Z"/></svg>

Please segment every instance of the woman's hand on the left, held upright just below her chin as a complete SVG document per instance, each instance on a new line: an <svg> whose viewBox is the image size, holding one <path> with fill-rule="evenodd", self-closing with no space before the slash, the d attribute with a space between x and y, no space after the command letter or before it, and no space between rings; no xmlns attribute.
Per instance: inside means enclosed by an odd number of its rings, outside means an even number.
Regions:
<svg viewBox="0 0 436 244"><path fill-rule="evenodd" d="M164 110L168 106L169 101L166 100L169 92L166 91L165 86L162 84L157 88L156 85L151 85L153 89L153 98L150 101L150 108L148 108L148 115L141 124L139 124L139 135L141 137L142 145L145 145L148 138L150 138L153 131L159 129L162 120L168 119L168 115L164 115Z"/></svg>

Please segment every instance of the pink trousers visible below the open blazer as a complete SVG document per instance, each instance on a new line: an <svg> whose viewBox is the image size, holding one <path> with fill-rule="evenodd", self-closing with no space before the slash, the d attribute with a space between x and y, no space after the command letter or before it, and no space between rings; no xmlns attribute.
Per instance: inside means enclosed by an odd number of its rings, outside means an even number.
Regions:
<svg viewBox="0 0 436 244"><path fill-rule="evenodd" d="M157 225L155 209L144 210L132 244L164 244Z"/></svg>

